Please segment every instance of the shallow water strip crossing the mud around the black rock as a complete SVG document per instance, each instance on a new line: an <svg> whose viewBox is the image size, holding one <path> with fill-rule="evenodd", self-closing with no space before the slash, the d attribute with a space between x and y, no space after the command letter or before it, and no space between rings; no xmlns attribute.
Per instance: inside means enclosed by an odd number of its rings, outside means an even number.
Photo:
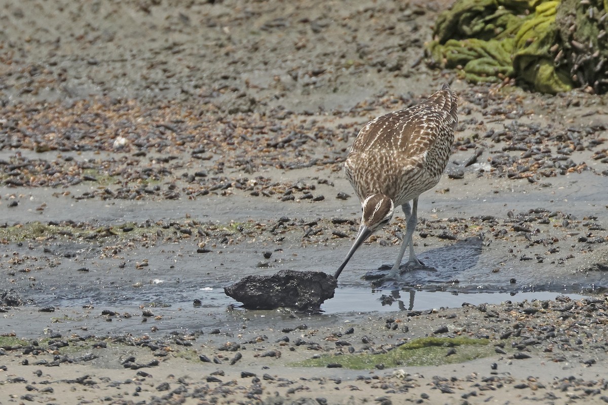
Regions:
<svg viewBox="0 0 608 405"><path fill-rule="evenodd" d="M26 247L12 248L32 254ZM196 245L187 244L162 245L153 250L136 248L128 252L130 259L125 262L100 259L99 247L58 243L46 253L51 262L57 262L56 267L17 271L8 280L27 304L38 307L193 308L198 300L199 308L220 313L240 305L224 294L223 287L242 277L272 274L284 268L313 270L305 265L314 257L339 261L338 249L332 245L305 248L288 243L283 251L275 251L275 261L270 260L266 268L257 265L261 258L259 246L236 245L222 253L197 254L195 250ZM356 267L363 265L368 269L378 266L378 257L395 253L394 248L378 245L362 250ZM377 288L372 288L371 281L362 276L385 271L348 268L340 276L334 298L326 301L322 310L326 314L427 310L460 307L464 302L554 299L558 294L582 298L602 293L608 286L605 271L574 271L568 265L522 261L497 251L483 246L478 238L427 247L419 257L437 271L409 271L402 274L399 285ZM297 260L293 259L294 252ZM149 265L138 268L137 263L143 260L148 260ZM328 260L325 267L314 270L332 273L334 262Z"/></svg>

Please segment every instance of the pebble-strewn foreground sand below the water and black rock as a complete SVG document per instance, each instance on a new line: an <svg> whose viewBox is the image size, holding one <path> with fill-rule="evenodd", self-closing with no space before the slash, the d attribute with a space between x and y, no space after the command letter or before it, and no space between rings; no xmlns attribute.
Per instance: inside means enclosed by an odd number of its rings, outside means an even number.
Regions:
<svg viewBox="0 0 608 405"><path fill-rule="evenodd" d="M45 328L44 339L9 344L3 338L2 392L7 403L28 398L66 403L69 398L70 403L125 404L567 404L606 398L605 299L505 301L396 316L230 311L209 318L199 311L198 319L204 320L200 329L133 335L120 331L133 330L143 319L149 319L145 325L153 331L165 317L189 316L192 322L192 310L153 308L148 317L100 316L101 311L55 311L58 323ZM33 324L40 321L36 318L47 318L24 308L11 311L9 319L25 317ZM385 353L427 336L489 338L489 353L441 366L383 363ZM440 350L447 358L465 348ZM297 366L319 355L333 356L332 367ZM367 369L341 366L348 358L365 355L371 356Z"/></svg>

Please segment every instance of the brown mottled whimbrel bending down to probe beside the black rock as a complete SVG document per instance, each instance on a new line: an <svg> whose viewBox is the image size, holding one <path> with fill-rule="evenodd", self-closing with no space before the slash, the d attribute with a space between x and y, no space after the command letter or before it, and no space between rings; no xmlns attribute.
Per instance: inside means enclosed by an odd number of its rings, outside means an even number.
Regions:
<svg viewBox="0 0 608 405"><path fill-rule="evenodd" d="M446 168L458 124L456 100L446 83L420 104L375 118L359 131L344 168L363 214L359 233L336 278L359 246L389 223L399 205L406 216L406 236L395 265L384 279L399 279L407 247L406 270L427 268L416 258L412 243L418 197L437 185Z"/></svg>

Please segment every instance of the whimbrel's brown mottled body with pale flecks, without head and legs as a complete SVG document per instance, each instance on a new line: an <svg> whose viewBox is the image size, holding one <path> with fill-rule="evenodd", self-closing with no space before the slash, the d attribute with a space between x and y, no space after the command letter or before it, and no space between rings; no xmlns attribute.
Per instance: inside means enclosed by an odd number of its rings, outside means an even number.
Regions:
<svg viewBox="0 0 608 405"><path fill-rule="evenodd" d="M437 185L454 143L456 101L444 84L420 104L382 115L361 129L345 162L361 201L382 193L401 205Z"/></svg>

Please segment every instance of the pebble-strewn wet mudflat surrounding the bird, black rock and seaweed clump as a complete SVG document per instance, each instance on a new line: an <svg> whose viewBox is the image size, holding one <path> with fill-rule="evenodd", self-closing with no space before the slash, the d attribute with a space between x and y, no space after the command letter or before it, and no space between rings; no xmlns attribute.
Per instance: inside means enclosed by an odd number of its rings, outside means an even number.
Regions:
<svg viewBox="0 0 608 405"><path fill-rule="evenodd" d="M6 5L0 404L608 401L605 95L432 69L444 2ZM437 273L361 278L392 262L397 216L340 276L370 310L343 294L320 315L244 311L218 292L333 274L360 215L348 146L444 81L457 141L414 236ZM443 295L410 308L413 291ZM490 353L346 367L428 336ZM335 367L298 365L319 355Z"/></svg>

